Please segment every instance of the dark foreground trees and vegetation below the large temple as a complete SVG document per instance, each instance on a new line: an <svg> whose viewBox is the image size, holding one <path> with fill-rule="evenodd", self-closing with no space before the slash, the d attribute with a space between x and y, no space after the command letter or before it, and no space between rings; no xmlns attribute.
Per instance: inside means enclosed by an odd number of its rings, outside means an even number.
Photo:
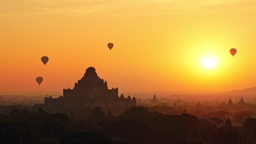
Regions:
<svg viewBox="0 0 256 144"><path fill-rule="evenodd" d="M163 115L146 107L132 107L114 117L95 108L86 118L61 113L49 114L14 109L0 115L0 143L19 144L237 144L248 143L256 119L247 118L243 127L218 128L218 118L194 115Z"/></svg>

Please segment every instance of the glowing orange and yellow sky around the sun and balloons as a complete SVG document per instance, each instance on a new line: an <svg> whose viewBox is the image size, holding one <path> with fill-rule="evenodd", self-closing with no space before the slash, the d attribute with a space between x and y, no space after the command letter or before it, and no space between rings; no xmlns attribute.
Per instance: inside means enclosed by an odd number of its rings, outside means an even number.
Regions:
<svg viewBox="0 0 256 144"><path fill-rule="evenodd" d="M61 92L91 66L120 91L256 86L255 7L253 0L1 0L0 93ZM204 69L204 56L216 67Z"/></svg>

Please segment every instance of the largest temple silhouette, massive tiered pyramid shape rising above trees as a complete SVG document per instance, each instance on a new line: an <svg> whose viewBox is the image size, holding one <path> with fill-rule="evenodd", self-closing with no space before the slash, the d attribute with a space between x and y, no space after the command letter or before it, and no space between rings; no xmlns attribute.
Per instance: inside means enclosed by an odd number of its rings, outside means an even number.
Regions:
<svg viewBox="0 0 256 144"><path fill-rule="evenodd" d="M136 106L136 98L130 96L125 98L118 96L118 88L107 87L107 81L99 78L96 69L86 69L82 79L75 83L73 89L63 89L63 96L53 99L52 96L45 97L44 107L50 112L74 112L82 108L99 107L107 113L109 110L122 113L124 110ZM118 112L117 112L118 111ZM70 113L69 113L70 114Z"/></svg>

